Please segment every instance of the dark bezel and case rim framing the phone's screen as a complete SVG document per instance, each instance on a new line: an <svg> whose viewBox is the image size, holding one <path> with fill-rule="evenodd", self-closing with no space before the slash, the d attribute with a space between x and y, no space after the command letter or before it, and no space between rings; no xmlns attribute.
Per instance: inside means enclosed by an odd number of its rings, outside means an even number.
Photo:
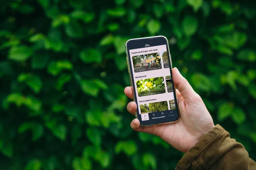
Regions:
<svg viewBox="0 0 256 170"><path fill-rule="evenodd" d="M169 51L169 43L168 43L168 40L165 36L151 36L151 37L145 37L145 38L133 38L133 39L130 39L126 42L126 61L127 61L127 66L128 66L128 73L129 73L129 76L130 76L130 83L131 83L131 87L132 87L132 91L133 91L133 94L136 94L136 91L135 91L135 85L134 85L134 80L133 80L133 75L130 71L130 57L128 55L128 51L129 51L129 43L132 42L132 41L141 41L140 43L142 45L145 44L146 41L150 41L150 46L157 46L157 45L166 45L167 46L167 55L168 55L168 60L169 60L169 65L170 65L170 74L171 74L171 79L172 79L172 62L171 62L171 54L170 54L170 51ZM143 42L143 43L142 43ZM149 44L149 43L147 43ZM153 45L152 45L153 44ZM142 47L142 46L138 46L136 45L136 48L132 48L132 49L139 49L139 48L145 48L145 47ZM175 123L177 121L180 120L180 110L179 110L179 105L178 105L178 98L177 98L177 95L176 95L176 88L175 88L175 85L173 85L173 95L174 95L174 101L175 101L175 105L176 105L176 109L177 109L177 112L178 112L178 118L174 121L167 121L167 122L162 122L162 123L153 123L153 124L143 124L143 121L141 120L141 117L139 117L139 112L138 112L138 102L137 102L137 99L136 99L136 96L133 95L133 100L136 102L137 104L137 110L136 110L136 113L135 113L135 116L140 120L140 125L141 126L152 126L152 125L162 125L162 124L168 124L168 123ZM139 114L139 115L138 115Z"/></svg>

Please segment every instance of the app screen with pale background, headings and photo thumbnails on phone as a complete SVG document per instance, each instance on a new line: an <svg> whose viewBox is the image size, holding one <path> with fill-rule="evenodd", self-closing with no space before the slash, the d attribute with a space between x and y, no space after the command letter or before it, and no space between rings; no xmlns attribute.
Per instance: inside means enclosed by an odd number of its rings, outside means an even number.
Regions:
<svg viewBox="0 0 256 170"><path fill-rule="evenodd" d="M129 50L142 121L176 119L173 81L166 45Z"/></svg>

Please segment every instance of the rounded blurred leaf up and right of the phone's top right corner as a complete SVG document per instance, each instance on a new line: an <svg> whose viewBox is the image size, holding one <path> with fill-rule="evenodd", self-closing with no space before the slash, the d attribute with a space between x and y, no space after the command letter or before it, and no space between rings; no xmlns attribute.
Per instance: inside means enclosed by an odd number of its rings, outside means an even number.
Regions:
<svg viewBox="0 0 256 170"><path fill-rule="evenodd" d="M194 16L186 16L182 20L182 29L187 36L192 36L196 33L198 21Z"/></svg>

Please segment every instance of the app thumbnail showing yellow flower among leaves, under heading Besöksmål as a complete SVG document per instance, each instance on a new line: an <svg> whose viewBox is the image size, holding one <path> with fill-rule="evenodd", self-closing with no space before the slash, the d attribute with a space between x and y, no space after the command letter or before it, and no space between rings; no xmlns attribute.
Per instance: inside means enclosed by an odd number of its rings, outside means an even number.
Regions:
<svg viewBox="0 0 256 170"><path fill-rule="evenodd" d="M165 93L165 82L163 77L137 80L136 85L139 97Z"/></svg>

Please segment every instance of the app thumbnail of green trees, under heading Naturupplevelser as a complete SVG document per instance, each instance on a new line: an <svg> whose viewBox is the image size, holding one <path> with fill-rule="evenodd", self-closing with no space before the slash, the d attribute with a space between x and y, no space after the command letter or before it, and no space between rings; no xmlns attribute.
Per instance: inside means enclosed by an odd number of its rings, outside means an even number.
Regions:
<svg viewBox="0 0 256 170"><path fill-rule="evenodd" d="M140 105L140 113L153 113L158 111L165 111L168 109L167 101L159 101L155 103L146 103L143 105Z"/></svg>

